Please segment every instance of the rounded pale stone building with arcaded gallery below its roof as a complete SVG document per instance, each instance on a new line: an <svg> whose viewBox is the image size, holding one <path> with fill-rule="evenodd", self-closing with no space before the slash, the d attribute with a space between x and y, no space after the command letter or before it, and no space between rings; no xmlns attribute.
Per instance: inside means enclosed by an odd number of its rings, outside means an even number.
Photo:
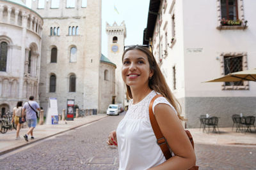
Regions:
<svg viewBox="0 0 256 170"><path fill-rule="evenodd" d="M20 0L0 0L0 112L38 101L43 19Z"/></svg>

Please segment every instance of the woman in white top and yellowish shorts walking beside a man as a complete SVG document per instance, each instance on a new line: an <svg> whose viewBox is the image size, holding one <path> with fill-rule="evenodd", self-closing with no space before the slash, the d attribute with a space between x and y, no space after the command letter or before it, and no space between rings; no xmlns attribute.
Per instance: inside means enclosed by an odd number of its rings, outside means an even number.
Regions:
<svg viewBox="0 0 256 170"><path fill-rule="evenodd" d="M20 139L20 127L21 124L19 122L22 114L22 101L18 101L17 106L13 108L13 114L12 114L12 123L16 125L16 140Z"/></svg>

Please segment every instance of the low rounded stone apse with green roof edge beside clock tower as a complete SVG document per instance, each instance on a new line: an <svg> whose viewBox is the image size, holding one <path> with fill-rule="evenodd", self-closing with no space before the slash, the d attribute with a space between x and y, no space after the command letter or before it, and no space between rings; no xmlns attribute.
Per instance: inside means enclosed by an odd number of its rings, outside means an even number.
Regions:
<svg viewBox="0 0 256 170"><path fill-rule="evenodd" d="M100 57L99 73L99 111L106 113L109 104L115 104L115 69L116 65L103 54Z"/></svg>

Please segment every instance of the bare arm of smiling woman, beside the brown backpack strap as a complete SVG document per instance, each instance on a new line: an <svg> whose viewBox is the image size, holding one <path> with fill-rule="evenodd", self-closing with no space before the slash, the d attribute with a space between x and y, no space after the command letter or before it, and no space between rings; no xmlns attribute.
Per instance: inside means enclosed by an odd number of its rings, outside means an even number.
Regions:
<svg viewBox="0 0 256 170"><path fill-rule="evenodd" d="M189 169L194 166L195 152L175 111L167 104L157 104L154 113L161 132L175 156L150 169Z"/></svg>

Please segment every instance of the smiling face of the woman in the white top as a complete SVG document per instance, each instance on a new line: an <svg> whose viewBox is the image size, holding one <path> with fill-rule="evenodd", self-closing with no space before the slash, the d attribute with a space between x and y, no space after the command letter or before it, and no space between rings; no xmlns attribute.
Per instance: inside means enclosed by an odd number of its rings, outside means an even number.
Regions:
<svg viewBox="0 0 256 170"><path fill-rule="evenodd" d="M126 85L133 88L148 87L148 78L153 75L149 69L148 57L140 50L129 50L124 55L122 78Z"/></svg>

